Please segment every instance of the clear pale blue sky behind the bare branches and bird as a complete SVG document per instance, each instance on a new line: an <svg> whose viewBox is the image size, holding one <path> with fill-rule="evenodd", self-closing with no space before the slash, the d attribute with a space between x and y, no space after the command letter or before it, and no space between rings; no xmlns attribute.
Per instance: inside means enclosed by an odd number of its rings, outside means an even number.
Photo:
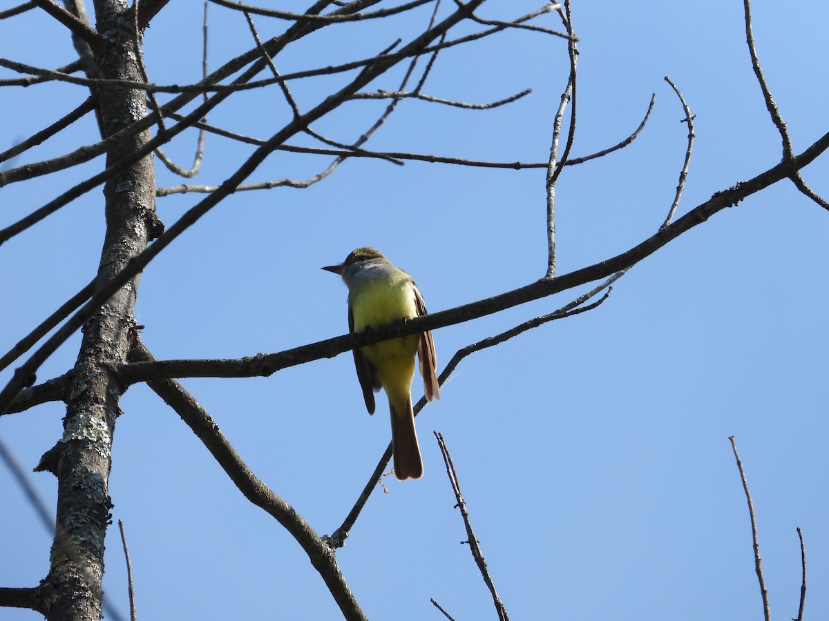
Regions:
<svg viewBox="0 0 829 621"><path fill-rule="evenodd" d="M671 2L575 2L579 122L573 155L599 151L656 106L621 152L565 169L557 189L559 273L612 257L654 233L671 205L686 126L669 75L696 115L696 142L678 214L779 161L780 139L754 79L741 2L692 11ZM300 10L298 2L280 8ZM489 2L482 17L541 4ZM444 6L443 10L448 11ZM407 37L430 7L385 24L338 26L277 59L288 72L361 58ZM250 48L244 18L211 13L211 68ZM829 84L820 3L757 2L754 36L795 152L827 132ZM256 18L260 36L283 27ZM555 14L537 23L560 28ZM33 33L38 46L32 46ZM150 79L186 84L201 71L201 7L172 2L145 37ZM0 56L54 68L74 56L61 26L31 15L0 22ZM423 65L419 65L421 68ZM565 87L564 41L511 31L440 55L424 92L485 103L525 88L510 106L465 111L403 101L367 147L493 161L545 161ZM10 74L3 70L2 76ZM402 69L369 90L395 89ZM298 83L303 109L342 77ZM83 87L3 89L6 148L87 96ZM163 99L162 99L163 100ZM288 120L279 90L242 94L211 113L232 131L269 137ZM235 101L235 103L233 103ZM57 104L60 104L58 106ZM314 128L349 142L384 103L353 102ZM166 151L189 166L195 132ZM95 142L84 118L32 150L45 159ZM309 138L294 143L313 144ZM208 136L201 174L218 185L250 153ZM22 164L24 159L14 162ZM158 161L157 161L158 162ZM328 159L276 153L250 181L304 179ZM827 156L804 178L824 197ZM0 191L3 226L99 170ZM158 185L177 185L158 162ZM201 195L158 200L169 226ZM102 197L93 190L4 244L0 350L95 273ZM417 419L425 475L384 479L337 552L371 619L494 618L432 431L447 440L473 527L513 619L761 619L749 518L729 436L757 513L772 614L797 616L807 545L807 617L829 614L827 486L827 230L829 214L787 182L725 209L633 267L598 309L555 321L465 359L442 398ZM308 190L231 196L150 264L139 323L158 359L236 358L347 331L346 289L319 267L356 246L381 248L418 282L429 310L527 284L545 272L544 171L347 161ZM564 306L565 291L434 333L439 368L459 348ZM38 373L64 373L79 337ZM5 383L9 369L0 373ZM389 440L385 407L368 416L349 354L270 378L185 379L260 479L319 533L336 529ZM415 394L415 399L419 393ZM379 404L384 402L379 397ZM230 484L178 416L148 388L121 404L110 495L130 546L145 619L337 619L298 544ZM0 436L26 469L61 436L61 404L3 416ZM56 484L32 474L50 508ZM0 469L0 585L36 585L51 537ZM105 589L128 612L117 529ZM0 619L38 615L3 609Z"/></svg>

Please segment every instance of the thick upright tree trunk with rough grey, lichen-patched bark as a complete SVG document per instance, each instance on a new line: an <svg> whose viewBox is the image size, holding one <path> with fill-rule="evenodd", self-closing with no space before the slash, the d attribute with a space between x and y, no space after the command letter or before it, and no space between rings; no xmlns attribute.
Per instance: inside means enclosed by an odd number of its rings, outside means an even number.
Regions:
<svg viewBox="0 0 829 621"><path fill-rule="evenodd" d="M118 0L96 0L97 31L104 44L93 49L99 78L143 82L138 64L140 38L133 13ZM93 89L106 136L146 115L141 90ZM149 140L141 132L107 154L107 166ZM148 242L148 222L155 218L152 156L115 176L104 186L106 233L96 289L141 253ZM67 395L64 435L54 454L58 478L57 528L46 588L46 618L100 619L104 575L104 535L110 521L109 469L112 440L123 389L111 368L124 363L138 277L133 278L95 313L84 329L80 354ZM53 462L54 463L54 462Z"/></svg>

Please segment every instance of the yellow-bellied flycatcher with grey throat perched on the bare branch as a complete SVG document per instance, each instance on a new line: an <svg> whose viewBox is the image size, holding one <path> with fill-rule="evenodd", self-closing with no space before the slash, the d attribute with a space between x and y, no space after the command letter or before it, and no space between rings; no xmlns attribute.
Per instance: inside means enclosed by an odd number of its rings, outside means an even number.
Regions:
<svg viewBox="0 0 829 621"><path fill-rule="evenodd" d="M350 333L426 314L423 296L409 274L393 266L383 253L374 248L357 248L341 265L322 269L339 274L348 286ZM420 362L426 399L440 398L440 386L434 374L437 365L434 341L429 330L354 349L357 378L369 414L374 414L375 392L382 387L389 397L395 476L400 480L423 476L423 459L414 431L410 392L415 353Z"/></svg>

